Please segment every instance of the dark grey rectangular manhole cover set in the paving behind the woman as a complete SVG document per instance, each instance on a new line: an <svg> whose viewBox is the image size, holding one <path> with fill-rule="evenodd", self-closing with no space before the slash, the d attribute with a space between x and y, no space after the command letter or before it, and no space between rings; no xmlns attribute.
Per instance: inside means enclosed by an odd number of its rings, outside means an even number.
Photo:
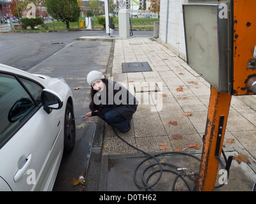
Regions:
<svg viewBox="0 0 256 204"><path fill-rule="evenodd" d="M123 73L138 72L138 71L152 71L148 62L124 62L122 63Z"/></svg>

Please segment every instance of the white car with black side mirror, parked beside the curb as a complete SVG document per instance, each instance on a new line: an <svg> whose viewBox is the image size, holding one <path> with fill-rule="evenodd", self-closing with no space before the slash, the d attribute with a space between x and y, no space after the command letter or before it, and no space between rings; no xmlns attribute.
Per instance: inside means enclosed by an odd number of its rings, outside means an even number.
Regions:
<svg viewBox="0 0 256 204"><path fill-rule="evenodd" d="M0 64L0 191L51 191L74 148L72 91L63 78Z"/></svg>

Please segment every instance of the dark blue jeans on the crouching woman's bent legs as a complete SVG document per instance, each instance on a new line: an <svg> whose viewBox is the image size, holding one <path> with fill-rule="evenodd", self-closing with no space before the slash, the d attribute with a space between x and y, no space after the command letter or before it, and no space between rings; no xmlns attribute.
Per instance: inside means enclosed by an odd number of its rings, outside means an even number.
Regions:
<svg viewBox="0 0 256 204"><path fill-rule="evenodd" d="M108 122L111 126L114 126L116 129L122 133L126 133L130 129L129 120L122 117L120 113L116 110L109 110L104 114L104 120Z"/></svg>

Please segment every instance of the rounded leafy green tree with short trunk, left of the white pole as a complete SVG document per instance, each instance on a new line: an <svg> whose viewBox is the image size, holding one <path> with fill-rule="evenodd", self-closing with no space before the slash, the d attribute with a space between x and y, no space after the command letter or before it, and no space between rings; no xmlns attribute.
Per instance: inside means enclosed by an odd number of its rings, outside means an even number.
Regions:
<svg viewBox="0 0 256 204"><path fill-rule="evenodd" d="M77 5L77 0L46 0L46 7L53 18L67 25L67 29L70 29L69 22L79 20L81 10Z"/></svg>

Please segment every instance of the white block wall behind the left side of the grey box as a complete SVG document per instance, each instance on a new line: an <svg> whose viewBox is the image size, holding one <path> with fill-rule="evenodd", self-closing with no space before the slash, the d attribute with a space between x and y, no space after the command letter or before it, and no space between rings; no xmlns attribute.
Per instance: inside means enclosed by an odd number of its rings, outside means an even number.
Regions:
<svg viewBox="0 0 256 204"><path fill-rule="evenodd" d="M159 23L159 41L167 44L182 59L186 59L182 13L184 3L188 3L188 0L161 0Z"/></svg>

